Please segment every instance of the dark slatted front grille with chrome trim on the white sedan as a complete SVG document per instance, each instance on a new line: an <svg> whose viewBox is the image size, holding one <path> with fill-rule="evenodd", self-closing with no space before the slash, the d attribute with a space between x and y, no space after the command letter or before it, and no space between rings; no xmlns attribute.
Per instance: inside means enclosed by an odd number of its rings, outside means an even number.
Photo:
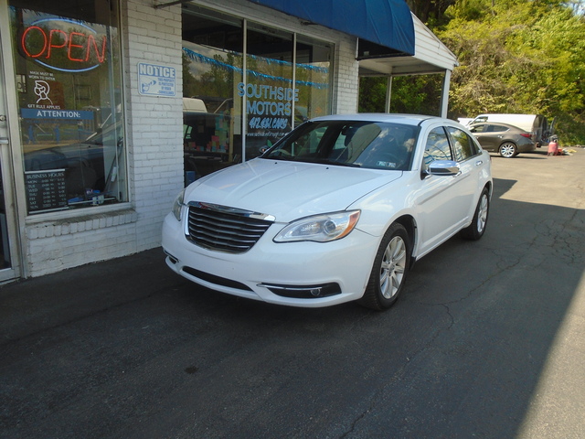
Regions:
<svg viewBox="0 0 585 439"><path fill-rule="evenodd" d="M187 239L218 252L248 252L274 222L271 215L197 201L188 210Z"/></svg>

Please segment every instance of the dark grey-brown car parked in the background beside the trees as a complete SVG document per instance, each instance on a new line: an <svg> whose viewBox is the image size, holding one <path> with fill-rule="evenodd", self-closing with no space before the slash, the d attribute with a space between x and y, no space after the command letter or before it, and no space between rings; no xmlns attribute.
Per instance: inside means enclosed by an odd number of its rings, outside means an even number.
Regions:
<svg viewBox="0 0 585 439"><path fill-rule="evenodd" d="M507 123L473 123L469 131L484 150L498 153L505 158L529 153L537 147L530 133Z"/></svg>

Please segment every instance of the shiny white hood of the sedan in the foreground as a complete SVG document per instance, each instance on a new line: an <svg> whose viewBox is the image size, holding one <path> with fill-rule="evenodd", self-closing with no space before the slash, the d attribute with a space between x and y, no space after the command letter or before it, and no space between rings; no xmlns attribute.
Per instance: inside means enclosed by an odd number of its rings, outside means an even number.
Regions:
<svg viewBox="0 0 585 439"><path fill-rule="evenodd" d="M251 210L289 222L344 210L402 174L257 158L198 179L187 187L185 201Z"/></svg>

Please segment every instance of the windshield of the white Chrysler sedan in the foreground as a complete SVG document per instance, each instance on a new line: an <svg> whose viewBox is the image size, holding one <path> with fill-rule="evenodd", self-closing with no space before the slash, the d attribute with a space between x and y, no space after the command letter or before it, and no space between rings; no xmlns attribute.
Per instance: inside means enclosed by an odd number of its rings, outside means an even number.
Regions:
<svg viewBox="0 0 585 439"><path fill-rule="evenodd" d="M419 129L400 123L308 122L261 158L371 169L408 170Z"/></svg>

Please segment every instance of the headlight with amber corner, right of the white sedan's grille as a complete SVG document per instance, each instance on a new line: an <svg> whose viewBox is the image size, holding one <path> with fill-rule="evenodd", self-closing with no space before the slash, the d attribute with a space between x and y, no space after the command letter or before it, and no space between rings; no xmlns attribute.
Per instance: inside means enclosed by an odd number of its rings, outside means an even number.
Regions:
<svg viewBox="0 0 585 439"><path fill-rule="evenodd" d="M282 229L274 242L340 240L354 230L359 219L359 210L326 213L294 221Z"/></svg>

